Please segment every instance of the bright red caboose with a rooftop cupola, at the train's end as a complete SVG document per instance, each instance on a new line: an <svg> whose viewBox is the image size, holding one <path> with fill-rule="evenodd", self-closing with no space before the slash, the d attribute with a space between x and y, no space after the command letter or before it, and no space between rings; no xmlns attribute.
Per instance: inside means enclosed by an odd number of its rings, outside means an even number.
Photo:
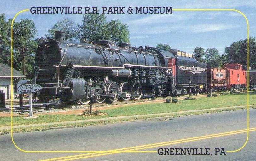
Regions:
<svg viewBox="0 0 256 161"><path fill-rule="evenodd" d="M241 64L226 64L227 89L242 88L246 86L245 70L242 70Z"/></svg>

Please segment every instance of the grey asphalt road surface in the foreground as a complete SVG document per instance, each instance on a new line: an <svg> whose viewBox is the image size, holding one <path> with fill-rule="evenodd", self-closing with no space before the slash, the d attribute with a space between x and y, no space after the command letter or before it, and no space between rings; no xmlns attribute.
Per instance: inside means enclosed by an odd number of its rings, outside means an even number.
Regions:
<svg viewBox="0 0 256 161"><path fill-rule="evenodd" d="M250 128L256 127L256 109L249 110ZM188 137L198 137L247 128L247 110L214 114L177 117L166 121L136 121L119 124L68 128L49 131L15 133L16 145L28 151L98 151L134 147L145 144L166 142ZM160 156L152 153L103 153L102 156L76 160L99 161L157 161L157 160L246 160L256 159L256 131L249 133L247 145L238 152L214 155L214 148L236 150L246 141L247 133L203 139L174 145L162 145L143 150L157 151L158 148L210 148L212 156ZM16 149L10 135L0 136L0 160L39 161L86 153L24 153ZM107 155L106 155L107 154ZM82 157L84 157L83 155ZM90 156L90 155L88 155ZM81 157L81 156L80 156ZM65 158L65 159L75 159ZM64 160L65 160L64 159ZM59 159L63 160L63 159Z"/></svg>

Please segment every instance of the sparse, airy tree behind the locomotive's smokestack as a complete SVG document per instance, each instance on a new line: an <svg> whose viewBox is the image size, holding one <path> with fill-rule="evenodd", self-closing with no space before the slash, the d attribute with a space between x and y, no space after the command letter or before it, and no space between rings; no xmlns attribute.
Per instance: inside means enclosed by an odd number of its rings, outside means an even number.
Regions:
<svg viewBox="0 0 256 161"><path fill-rule="evenodd" d="M54 37L55 31L64 31L66 32L65 40L73 40L74 38L77 38L77 35L79 33L78 30L79 26L75 23L74 20L70 18L64 18L59 20L55 25L53 25L52 28L47 30L46 37Z"/></svg>

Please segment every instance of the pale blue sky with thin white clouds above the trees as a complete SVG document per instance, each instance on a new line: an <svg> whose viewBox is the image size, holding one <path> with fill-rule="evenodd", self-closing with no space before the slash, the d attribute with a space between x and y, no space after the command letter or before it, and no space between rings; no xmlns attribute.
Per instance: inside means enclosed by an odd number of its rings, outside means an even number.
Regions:
<svg viewBox="0 0 256 161"><path fill-rule="evenodd" d="M6 2L5 2L6 1ZM178 8L216 8L237 9L243 12L249 21L250 36L255 37L256 26L256 1L253 0L180 0L180 1L123 1L123 0L61 0L61 1L32 1L32 0L1 0L0 14L4 13L6 19L13 18L17 12L30 9L32 6L172 6ZM172 11L172 14L106 14L107 21L119 19L129 26L132 46L153 46L158 43L169 44L174 49L193 53L195 47L215 47L224 52L226 46L234 41L247 37L247 24L244 17L234 11ZM58 20L70 17L81 24L82 14L31 14L26 11L21 13L20 19L32 19L36 24L38 35L44 37L46 31Z"/></svg>

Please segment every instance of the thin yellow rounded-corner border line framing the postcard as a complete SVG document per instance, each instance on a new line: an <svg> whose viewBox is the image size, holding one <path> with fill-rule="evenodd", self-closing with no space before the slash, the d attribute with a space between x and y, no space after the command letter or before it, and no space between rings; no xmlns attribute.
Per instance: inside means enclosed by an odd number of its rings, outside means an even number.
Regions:
<svg viewBox="0 0 256 161"><path fill-rule="evenodd" d="M12 20L12 25L11 25L11 86L13 86L13 23L15 18L22 12L25 11L29 11L29 9L25 9L22 10L20 12L18 12L13 20ZM249 67L249 23L248 23L248 19L247 17L244 15L244 13L242 13L239 10L236 9L172 9L172 11L236 11L238 13L241 13L243 15L243 17L246 19L247 22L247 66ZM247 69L247 72L249 72L249 69ZM247 84L249 84L249 74L247 74ZM13 93L13 88L11 88L11 93ZM140 153L146 153L146 152L154 152L155 151L27 151L27 150L23 150L20 149L14 142L13 139L13 94L11 94L11 138L12 138L12 142L15 145L15 147L17 149L19 149L22 152L27 152L27 153L99 153L99 152L112 152L112 153L124 153L124 152L140 152ZM227 152L237 152L239 150L241 150L242 148L245 147L245 145L247 144L249 139L249 89L248 89L248 85L247 85L247 139L246 142L244 143L244 145L236 150L231 150L231 151L227 151ZM194 140L191 140L194 141ZM155 144L148 144L148 146L150 145L155 145ZM99 154L100 155L100 154ZM48 159L49 160L49 159Z"/></svg>

